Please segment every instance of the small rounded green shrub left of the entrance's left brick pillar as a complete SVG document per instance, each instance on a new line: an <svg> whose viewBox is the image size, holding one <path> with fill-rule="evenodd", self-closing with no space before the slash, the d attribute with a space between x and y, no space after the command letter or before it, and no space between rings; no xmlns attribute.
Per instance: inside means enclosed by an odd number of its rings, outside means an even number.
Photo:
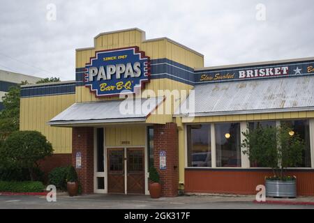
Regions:
<svg viewBox="0 0 314 223"><path fill-rule="evenodd" d="M58 189L66 190L66 176L69 167L56 167L48 174L49 184L55 185Z"/></svg>

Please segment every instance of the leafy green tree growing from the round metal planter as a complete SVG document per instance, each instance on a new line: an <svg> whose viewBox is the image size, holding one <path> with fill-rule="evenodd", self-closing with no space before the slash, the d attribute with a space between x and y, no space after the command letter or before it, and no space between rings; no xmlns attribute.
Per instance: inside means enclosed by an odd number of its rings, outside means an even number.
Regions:
<svg viewBox="0 0 314 223"><path fill-rule="evenodd" d="M287 167L297 167L302 162L304 140L287 125L280 127L257 126L242 132L246 139L241 143L251 162L262 167L271 167L274 178L285 179Z"/></svg>

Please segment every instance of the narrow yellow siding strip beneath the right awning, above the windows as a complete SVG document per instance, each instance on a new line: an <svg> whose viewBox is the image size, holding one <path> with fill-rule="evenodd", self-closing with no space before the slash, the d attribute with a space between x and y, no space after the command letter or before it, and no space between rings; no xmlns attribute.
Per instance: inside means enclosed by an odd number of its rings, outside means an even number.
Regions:
<svg viewBox="0 0 314 223"><path fill-rule="evenodd" d="M234 114L227 116L202 116L191 118L182 117L183 123L208 123L208 122L231 122L231 121L263 121L291 118L314 118L314 112L274 112L264 114Z"/></svg>

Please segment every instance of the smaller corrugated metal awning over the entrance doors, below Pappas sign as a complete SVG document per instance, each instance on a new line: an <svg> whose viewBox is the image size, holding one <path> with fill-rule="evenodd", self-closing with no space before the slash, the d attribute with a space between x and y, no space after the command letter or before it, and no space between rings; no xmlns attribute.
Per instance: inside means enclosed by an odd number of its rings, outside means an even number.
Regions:
<svg viewBox="0 0 314 223"><path fill-rule="evenodd" d="M97 123L144 122L163 98L136 98L101 102L75 103L48 124L54 126L90 125Z"/></svg>

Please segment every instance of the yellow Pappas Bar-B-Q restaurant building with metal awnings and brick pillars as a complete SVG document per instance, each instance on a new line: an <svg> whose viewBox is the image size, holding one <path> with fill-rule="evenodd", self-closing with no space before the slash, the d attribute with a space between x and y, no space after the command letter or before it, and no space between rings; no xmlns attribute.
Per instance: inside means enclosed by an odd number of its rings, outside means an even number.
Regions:
<svg viewBox="0 0 314 223"><path fill-rule="evenodd" d="M248 126L288 123L306 143L289 169L314 195L314 57L204 68L204 56L144 31L100 33L76 49L75 81L22 86L20 130L38 130L73 164L83 193L255 194L271 174L241 151Z"/></svg>

